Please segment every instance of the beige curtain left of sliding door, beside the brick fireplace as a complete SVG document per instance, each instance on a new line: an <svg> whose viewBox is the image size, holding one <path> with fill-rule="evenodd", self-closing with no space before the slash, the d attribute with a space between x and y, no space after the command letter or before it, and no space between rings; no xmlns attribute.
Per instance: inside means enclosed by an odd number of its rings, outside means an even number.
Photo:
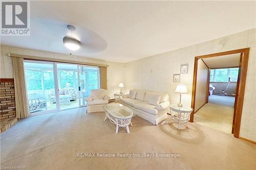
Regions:
<svg viewBox="0 0 256 170"><path fill-rule="evenodd" d="M29 107L23 58L12 57L12 64L14 75L16 117L26 118L29 114Z"/></svg>

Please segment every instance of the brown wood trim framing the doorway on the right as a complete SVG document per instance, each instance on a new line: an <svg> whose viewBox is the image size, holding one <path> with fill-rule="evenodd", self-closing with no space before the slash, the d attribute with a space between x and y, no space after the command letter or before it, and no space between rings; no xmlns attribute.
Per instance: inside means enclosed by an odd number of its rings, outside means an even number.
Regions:
<svg viewBox="0 0 256 170"><path fill-rule="evenodd" d="M239 79L237 83L237 95L236 95L236 101L235 101L236 106L234 108L234 119L233 119L233 129L232 129L234 137L236 138L239 138L239 133L240 133L249 51L250 51L250 48L242 48L239 50L232 50L227 52L214 53L214 54L195 57L192 99L191 99L191 108L193 109L195 109L195 103L196 103L195 100L196 100L198 60L202 58L218 57L218 56L241 53L240 65L239 65ZM189 122L194 122L194 114L195 114L195 111L193 111L190 114Z"/></svg>

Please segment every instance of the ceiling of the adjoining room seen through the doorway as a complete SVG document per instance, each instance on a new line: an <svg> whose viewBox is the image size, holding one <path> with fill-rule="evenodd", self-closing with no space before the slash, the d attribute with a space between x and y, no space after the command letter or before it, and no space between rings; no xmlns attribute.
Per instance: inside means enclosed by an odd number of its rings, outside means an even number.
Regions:
<svg viewBox="0 0 256 170"><path fill-rule="evenodd" d="M239 67L241 54L230 54L202 59L209 68Z"/></svg>

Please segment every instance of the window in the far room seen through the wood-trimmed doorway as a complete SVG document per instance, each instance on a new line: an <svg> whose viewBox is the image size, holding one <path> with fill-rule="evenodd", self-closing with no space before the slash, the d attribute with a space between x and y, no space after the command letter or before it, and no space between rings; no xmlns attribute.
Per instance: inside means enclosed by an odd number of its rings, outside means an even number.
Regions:
<svg viewBox="0 0 256 170"><path fill-rule="evenodd" d="M238 81L239 68L220 68L210 70L210 82Z"/></svg>

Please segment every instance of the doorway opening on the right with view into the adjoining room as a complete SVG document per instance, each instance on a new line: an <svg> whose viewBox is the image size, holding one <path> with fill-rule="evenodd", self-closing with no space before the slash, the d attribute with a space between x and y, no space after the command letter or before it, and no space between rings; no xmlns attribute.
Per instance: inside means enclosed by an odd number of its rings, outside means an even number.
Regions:
<svg viewBox="0 0 256 170"><path fill-rule="evenodd" d="M221 60L226 60L228 63L221 62ZM210 71L207 77L205 89L209 87L208 91L208 100L195 111L194 121L198 124L225 132L232 133L232 122L233 122L233 113L234 113L234 101L236 96L236 87L238 81L238 67L232 68L216 68L221 65L229 65L230 63L236 66L239 66L240 55L228 55L211 58L211 60L200 59L203 64L206 66L206 69ZM219 61L219 62L215 62ZM233 62L231 62L233 61ZM201 72L201 69L198 70ZM203 82L199 82L203 84ZM197 88L198 89L198 88ZM199 90L199 89L198 89ZM205 94L207 92L205 91ZM200 106L197 102L196 95L196 108ZM199 106L197 106L199 105Z"/></svg>

